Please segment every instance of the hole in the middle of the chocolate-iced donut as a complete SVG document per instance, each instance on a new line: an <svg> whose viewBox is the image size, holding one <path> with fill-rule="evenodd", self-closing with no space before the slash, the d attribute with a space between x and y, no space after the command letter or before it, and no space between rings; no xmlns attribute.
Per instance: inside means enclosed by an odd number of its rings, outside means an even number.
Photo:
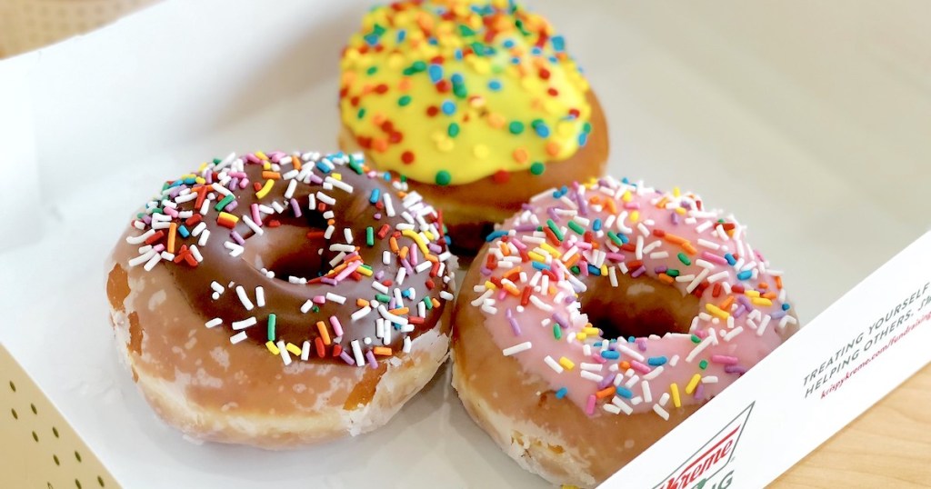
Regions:
<svg viewBox="0 0 931 489"><path fill-rule="evenodd" d="M242 259L258 270L271 271L275 278L317 278L330 271L323 238L307 238L310 229L297 225L266 227L262 236L249 238Z"/></svg>

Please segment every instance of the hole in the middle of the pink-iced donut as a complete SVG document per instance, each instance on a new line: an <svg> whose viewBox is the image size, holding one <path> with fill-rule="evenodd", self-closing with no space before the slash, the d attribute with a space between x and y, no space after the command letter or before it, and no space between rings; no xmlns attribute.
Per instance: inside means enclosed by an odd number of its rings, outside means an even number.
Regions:
<svg viewBox="0 0 931 489"><path fill-rule="evenodd" d="M596 280L580 297L582 312L607 339L688 333L698 298L653 278L618 277L618 286Z"/></svg>

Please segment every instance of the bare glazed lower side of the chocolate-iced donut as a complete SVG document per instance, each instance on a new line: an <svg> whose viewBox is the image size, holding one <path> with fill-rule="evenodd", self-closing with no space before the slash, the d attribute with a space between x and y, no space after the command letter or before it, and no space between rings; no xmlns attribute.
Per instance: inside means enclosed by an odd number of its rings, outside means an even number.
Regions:
<svg viewBox="0 0 931 489"><path fill-rule="evenodd" d="M133 278L134 286L142 292L130 291L122 266L110 264L110 269L108 281L114 284L110 288L126 288L119 293L125 293L123 300L110 294L110 320L118 359L158 418L192 441L282 450L368 433L385 426L398 414L404 404L430 382L449 356L452 307L443 312L437 328L412 341L409 354L398 361L381 364L378 370L308 363L289 371L282 369L276 357L227 349L228 342L223 335L218 338L203 328L191 328L194 334L187 338L186 345L170 348L172 353L163 350L166 355L182 355L185 360L199 354L201 360L211 363L219 361L232 365L234 361L248 361L253 362L251 368L254 370L280 371L273 375L274 382L281 385L282 395L277 398L254 396L255 402L240 410L236 401L223 401L222 397L211 395L211 392L236 385L235 372L229 372L226 378L218 377L207 374L196 360L195 364L179 365L164 355L143 353L151 351L151 346L171 344L176 339L174 334L179 333L177 326L188 320L195 321L196 325L198 317L189 311L175 317L154 313L147 307L153 301L152 295L145 293L152 289L152 283L144 283L145 278ZM120 283L125 285L120 286ZM183 304L176 290L165 289L164 292L164 298L156 301ZM225 350L228 357L223 357L216 348ZM167 368L172 363L172 368ZM338 373L334 373L334 369ZM332 380L334 376L339 380ZM301 390L299 394L303 395L313 385L324 386L320 390L328 398L315 406L316 409L297 408L289 401L288 392ZM234 388L239 387L242 386ZM241 393L236 395L242 396Z"/></svg>

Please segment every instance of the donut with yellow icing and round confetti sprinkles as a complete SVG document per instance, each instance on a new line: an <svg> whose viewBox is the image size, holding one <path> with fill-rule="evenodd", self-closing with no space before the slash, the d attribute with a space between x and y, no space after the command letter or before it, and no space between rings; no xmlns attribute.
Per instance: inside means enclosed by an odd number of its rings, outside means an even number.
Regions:
<svg viewBox="0 0 931 489"><path fill-rule="evenodd" d="M341 69L340 146L406 176L460 255L533 195L604 170L594 91L564 37L514 2L375 7Z"/></svg>

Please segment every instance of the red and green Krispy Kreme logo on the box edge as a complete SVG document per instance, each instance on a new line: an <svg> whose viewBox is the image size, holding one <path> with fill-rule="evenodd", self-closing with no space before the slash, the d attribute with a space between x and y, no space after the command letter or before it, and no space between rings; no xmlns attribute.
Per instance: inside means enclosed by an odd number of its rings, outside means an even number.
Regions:
<svg viewBox="0 0 931 489"><path fill-rule="evenodd" d="M751 402L740 414L718 431L711 440L708 440L695 455L682 462L679 469L675 469L668 477L654 486L654 489L726 489L731 485L731 474L727 474L720 482L707 485L717 476L731 459L740 435L747 426Z"/></svg>

